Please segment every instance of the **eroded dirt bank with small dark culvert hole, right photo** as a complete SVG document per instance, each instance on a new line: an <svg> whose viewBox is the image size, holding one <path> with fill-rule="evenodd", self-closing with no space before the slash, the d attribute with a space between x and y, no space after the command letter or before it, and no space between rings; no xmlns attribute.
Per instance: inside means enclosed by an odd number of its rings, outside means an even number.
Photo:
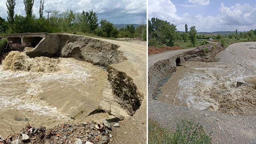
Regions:
<svg viewBox="0 0 256 144"><path fill-rule="evenodd" d="M178 64L185 61L212 61L216 54L224 49L219 43L216 46L199 46L194 50L156 62L148 69L149 98L157 99L157 95L162 93L161 87L172 76L172 73L176 72Z"/></svg>

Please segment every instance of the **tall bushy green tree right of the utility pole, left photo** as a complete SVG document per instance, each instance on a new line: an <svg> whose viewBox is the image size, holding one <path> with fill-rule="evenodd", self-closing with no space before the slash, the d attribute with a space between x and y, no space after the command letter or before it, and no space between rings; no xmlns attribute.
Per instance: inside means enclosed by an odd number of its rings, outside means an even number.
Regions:
<svg viewBox="0 0 256 144"><path fill-rule="evenodd" d="M93 10L82 12L82 15L84 16L86 20L86 24L89 26L90 31L94 31L98 27L98 16Z"/></svg>

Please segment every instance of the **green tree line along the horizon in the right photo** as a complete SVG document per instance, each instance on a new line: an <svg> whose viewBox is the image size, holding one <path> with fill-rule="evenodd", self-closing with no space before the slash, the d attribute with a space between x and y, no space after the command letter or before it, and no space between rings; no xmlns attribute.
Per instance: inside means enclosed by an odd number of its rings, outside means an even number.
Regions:
<svg viewBox="0 0 256 144"><path fill-rule="evenodd" d="M198 40L202 41L200 45L207 44L209 38L221 40L222 43L229 41L229 39L256 41L256 29L248 32L240 32L236 30L231 34L217 34L217 35L201 35L197 34L196 26L185 24L185 32L177 31L176 25L166 20L152 18L148 20L148 46L174 46L175 41L190 41L192 46L196 46ZM225 45L225 44L224 44Z"/></svg>

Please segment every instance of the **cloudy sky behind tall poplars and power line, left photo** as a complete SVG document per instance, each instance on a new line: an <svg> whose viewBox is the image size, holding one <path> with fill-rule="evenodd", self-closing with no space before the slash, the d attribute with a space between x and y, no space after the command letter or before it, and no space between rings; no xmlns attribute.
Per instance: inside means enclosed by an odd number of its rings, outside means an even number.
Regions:
<svg viewBox="0 0 256 144"><path fill-rule="evenodd" d="M33 14L38 17L39 1L35 0ZM6 0L0 0L0 16L7 17ZM71 9L74 12L93 10L98 14L98 18L117 18L107 19L114 24L131 24L147 22L146 0L45 0L44 8L47 11L65 11ZM16 0L15 14L25 15L23 0ZM143 16L135 16L143 15ZM47 16L45 12L45 17ZM134 17L126 17L134 16ZM126 18L119 18L126 17Z"/></svg>

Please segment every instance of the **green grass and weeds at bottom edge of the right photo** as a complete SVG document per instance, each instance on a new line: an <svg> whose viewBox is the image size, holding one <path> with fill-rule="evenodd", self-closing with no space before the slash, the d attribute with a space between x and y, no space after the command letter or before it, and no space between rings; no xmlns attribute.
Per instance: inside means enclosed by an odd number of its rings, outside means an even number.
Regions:
<svg viewBox="0 0 256 144"><path fill-rule="evenodd" d="M177 125L176 132L172 133L153 120L148 120L148 144L211 144L212 138L209 135L199 123L183 121Z"/></svg>

